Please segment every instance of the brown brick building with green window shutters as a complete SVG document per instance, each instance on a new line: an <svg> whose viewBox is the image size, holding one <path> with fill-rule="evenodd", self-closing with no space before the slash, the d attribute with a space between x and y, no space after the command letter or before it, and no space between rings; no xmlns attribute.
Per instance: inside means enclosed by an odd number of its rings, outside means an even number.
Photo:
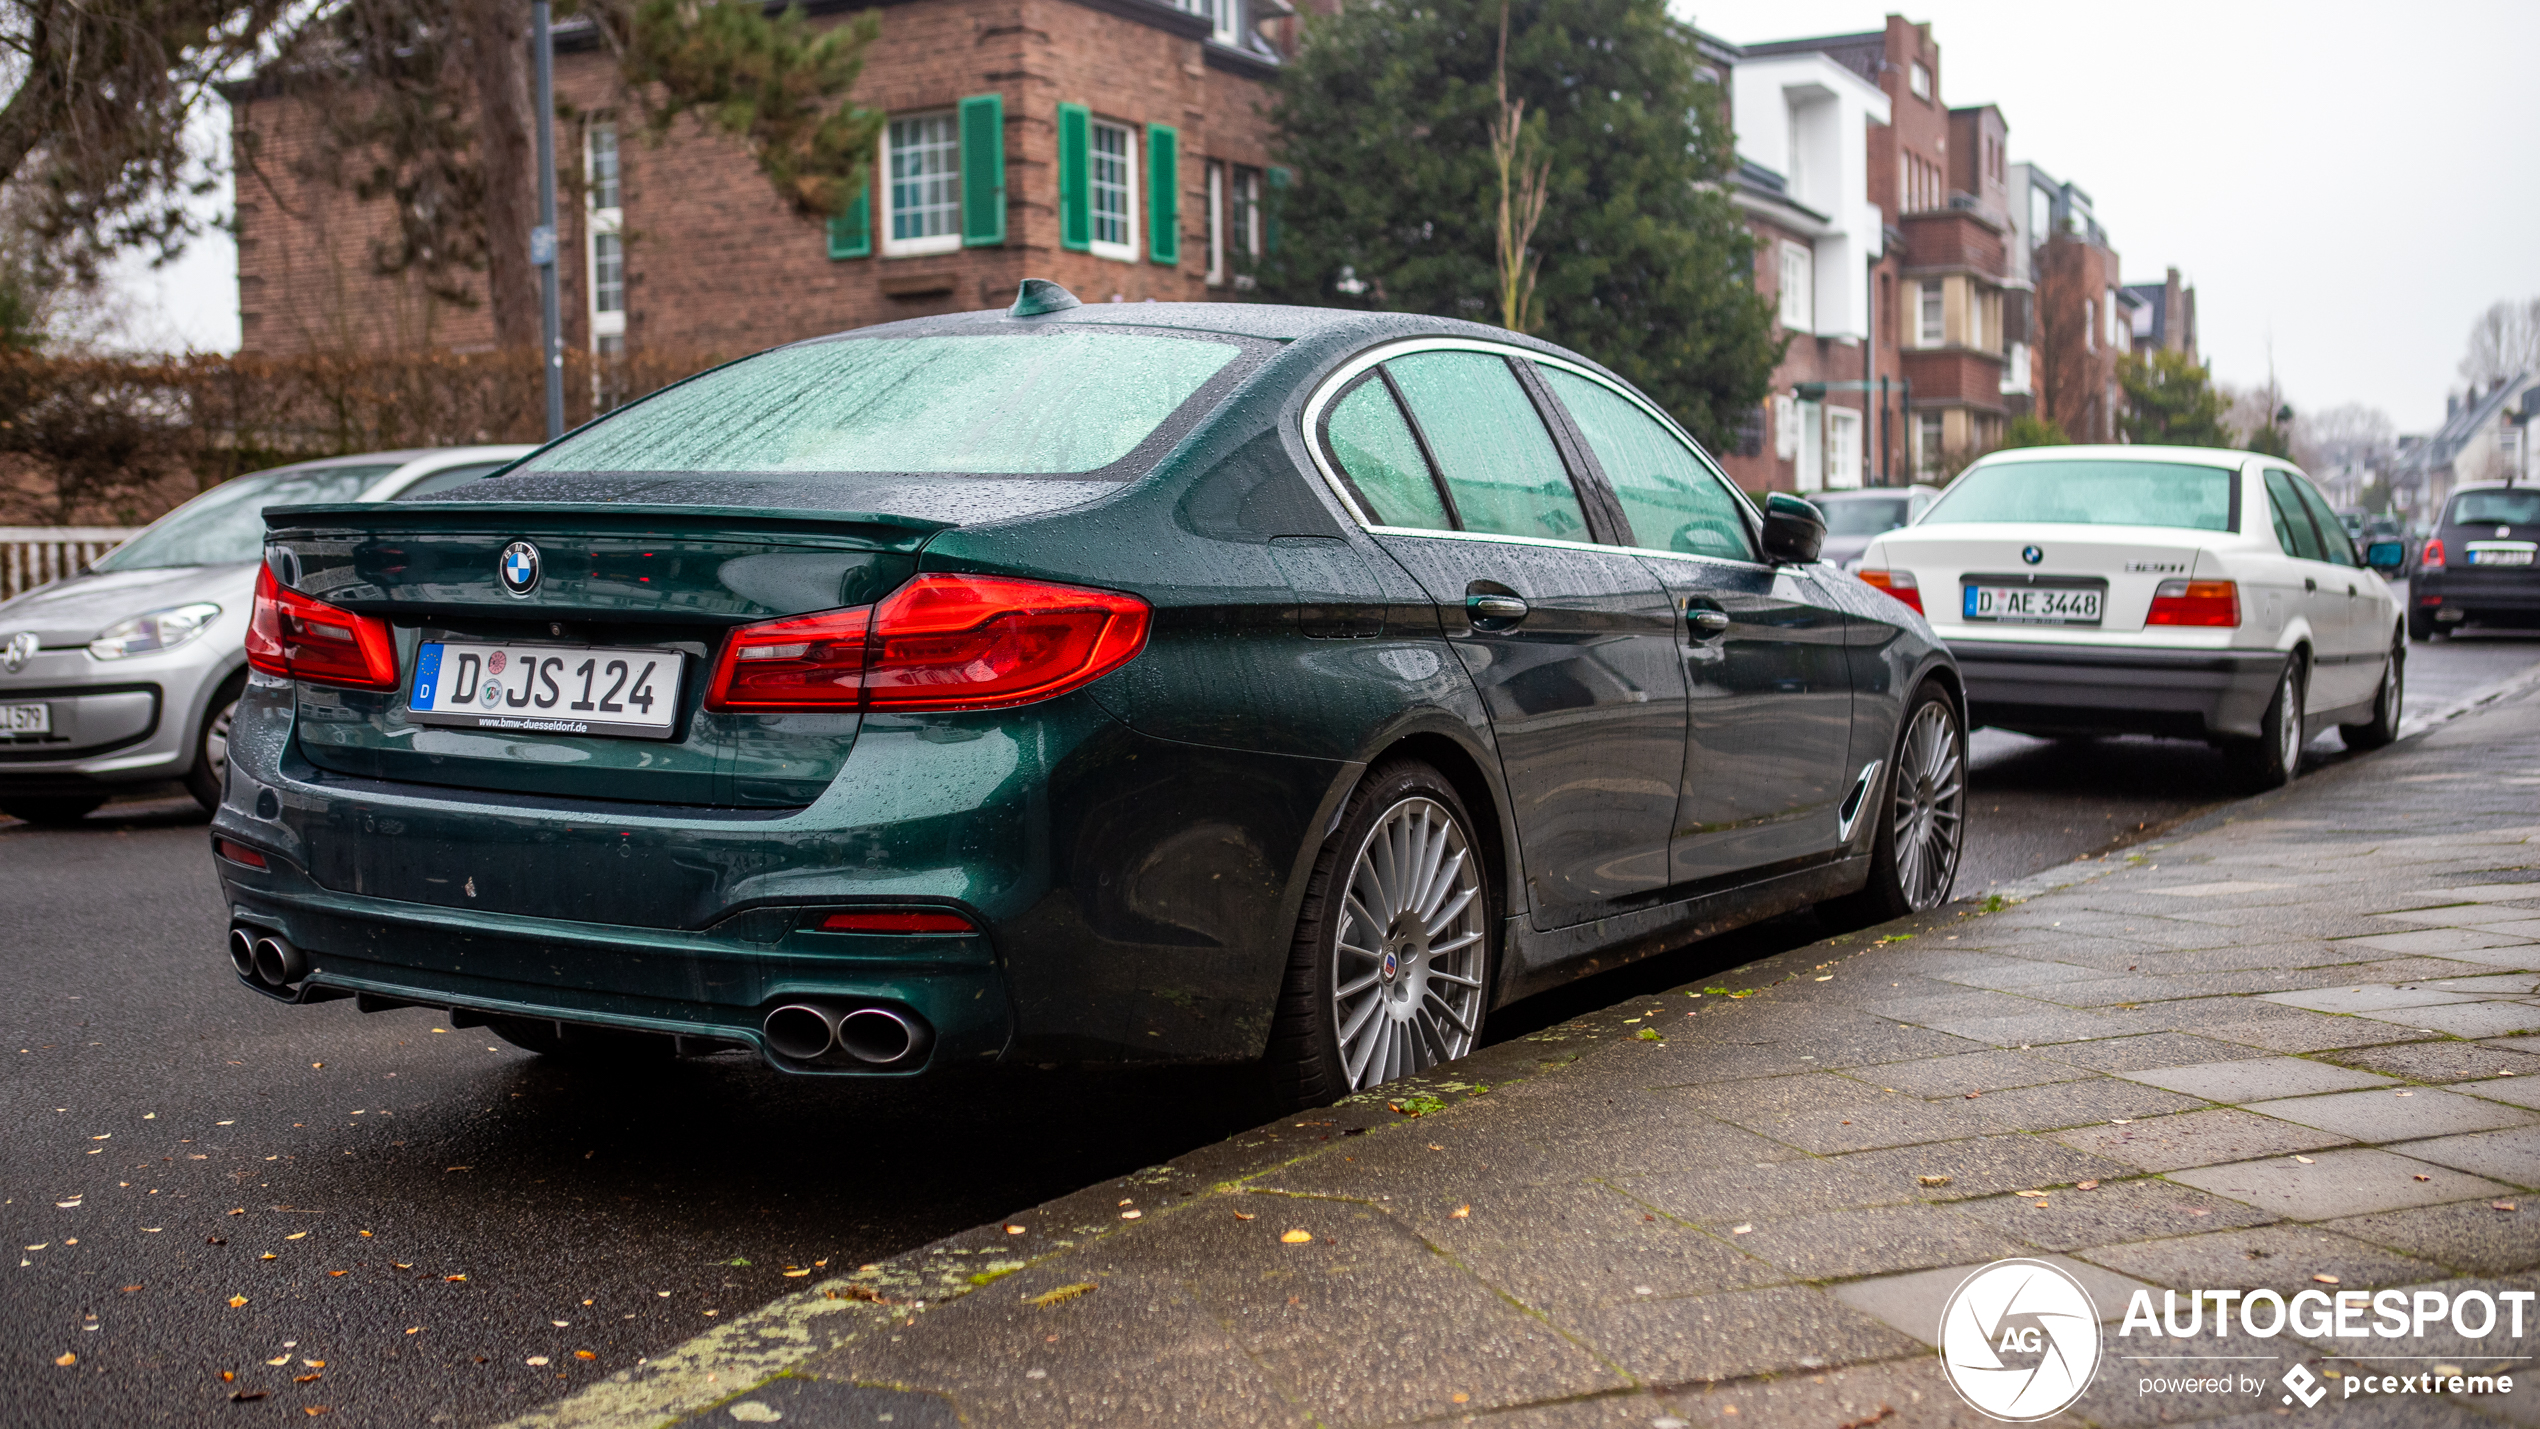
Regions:
<svg viewBox="0 0 2540 1429"><path fill-rule="evenodd" d="M853 5L869 8L866 0ZM831 23L846 0L810 0ZM749 353L866 322L1011 302L1052 277L1087 302L1232 292L1267 241L1278 178L1262 107L1285 0L897 0L856 102L889 114L871 185L820 223L790 213L747 152L681 124L640 137L589 25L556 30L556 162L566 343L594 353ZM391 218L302 180L307 117L244 86L262 140L239 185L246 353L488 348L483 305L376 274ZM483 282L478 282L483 292Z"/></svg>

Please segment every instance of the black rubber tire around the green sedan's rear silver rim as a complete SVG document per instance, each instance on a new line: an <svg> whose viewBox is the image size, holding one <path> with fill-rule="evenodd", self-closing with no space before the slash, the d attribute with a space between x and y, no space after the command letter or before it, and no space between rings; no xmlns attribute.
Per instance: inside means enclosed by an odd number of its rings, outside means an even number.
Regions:
<svg viewBox="0 0 2540 1429"><path fill-rule="evenodd" d="M1372 845L1377 827L1397 810L1417 807L1422 800L1445 810L1466 850L1466 868L1473 871L1478 883L1473 899L1463 904L1466 909L1478 906L1478 957L1463 965L1463 972L1478 972L1478 995L1471 995L1471 1028L1466 1036L1471 1046L1481 1043L1491 972L1499 967L1499 888L1483 855L1483 843L1473 830L1473 817L1466 812L1455 784L1422 761L1387 761L1369 769L1359 779L1359 787L1351 789L1349 805L1341 810L1331 838L1323 840L1323 850L1313 860L1313 876L1306 883L1306 904L1298 909L1295 937L1288 944L1288 980L1280 987L1278 1010L1270 1023L1270 1046L1262 1056L1262 1089L1280 1109L1328 1107L1356 1089L1344 1061L1344 1038L1336 1015L1339 937L1349 906L1349 878L1361 850ZM1392 957L1392 942L1387 942L1387 957ZM1407 980L1410 970L1425 957L1430 954L1407 957L1402 977ZM1387 990L1392 987L1392 977L1387 972ZM1422 1048L1420 1056L1427 1056L1427 1051ZM1367 1074L1372 1076L1374 1066Z"/></svg>

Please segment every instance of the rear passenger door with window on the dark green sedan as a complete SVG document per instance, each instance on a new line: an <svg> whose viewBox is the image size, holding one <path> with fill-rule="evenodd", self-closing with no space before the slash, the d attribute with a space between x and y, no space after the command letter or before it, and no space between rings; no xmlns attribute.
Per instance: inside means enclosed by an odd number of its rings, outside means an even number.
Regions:
<svg viewBox="0 0 2540 1429"><path fill-rule="evenodd" d="M1684 767L1674 612L1598 541L1603 505L1580 500L1537 391L1504 350L1438 343L1356 376L1321 429L1481 693L1534 926L1664 891Z"/></svg>

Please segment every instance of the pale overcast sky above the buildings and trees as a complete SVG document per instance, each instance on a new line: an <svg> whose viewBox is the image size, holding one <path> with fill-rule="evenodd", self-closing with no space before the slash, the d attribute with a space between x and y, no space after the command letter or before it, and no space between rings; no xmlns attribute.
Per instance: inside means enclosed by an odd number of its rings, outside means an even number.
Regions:
<svg viewBox="0 0 2540 1429"><path fill-rule="evenodd" d="M1849 0L1679 0L1727 41L1875 30ZM1941 99L2080 183L2126 282L2177 267L2205 358L2296 409L2443 419L2471 320L2540 297L2540 5L1933 0ZM2520 69L2520 74L2517 74ZM226 117L224 117L226 119ZM132 272L135 340L239 345L236 249Z"/></svg>

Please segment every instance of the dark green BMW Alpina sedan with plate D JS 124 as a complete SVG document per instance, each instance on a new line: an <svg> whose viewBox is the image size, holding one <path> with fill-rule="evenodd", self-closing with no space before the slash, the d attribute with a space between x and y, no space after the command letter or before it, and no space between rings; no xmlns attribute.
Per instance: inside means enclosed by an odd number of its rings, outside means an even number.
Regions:
<svg viewBox="0 0 2540 1429"><path fill-rule="evenodd" d="M267 525L211 843L284 1003L1308 1104L1958 866L1923 617L1496 327L1026 282Z"/></svg>

